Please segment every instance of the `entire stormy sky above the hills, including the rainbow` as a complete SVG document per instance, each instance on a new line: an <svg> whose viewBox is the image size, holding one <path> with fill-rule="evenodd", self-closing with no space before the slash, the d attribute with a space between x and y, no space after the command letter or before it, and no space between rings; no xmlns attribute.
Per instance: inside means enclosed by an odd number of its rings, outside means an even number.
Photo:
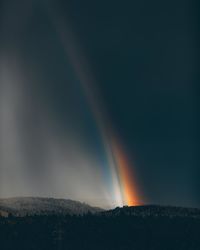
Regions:
<svg viewBox="0 0 200 250"><path fill-rule="evenodd" d="M0 4L0 197L199 207L195 3Z"/></svg>

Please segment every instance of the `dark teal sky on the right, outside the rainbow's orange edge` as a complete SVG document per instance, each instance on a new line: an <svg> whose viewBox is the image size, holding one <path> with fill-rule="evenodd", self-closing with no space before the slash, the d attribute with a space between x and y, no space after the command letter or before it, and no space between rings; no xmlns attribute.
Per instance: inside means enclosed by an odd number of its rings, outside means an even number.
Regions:
<svg viewBox="0 0 200 250"><path fill-rule="evenodd" d="M71 1L65 11L149 200L199 204L194 3Z"/></svg>

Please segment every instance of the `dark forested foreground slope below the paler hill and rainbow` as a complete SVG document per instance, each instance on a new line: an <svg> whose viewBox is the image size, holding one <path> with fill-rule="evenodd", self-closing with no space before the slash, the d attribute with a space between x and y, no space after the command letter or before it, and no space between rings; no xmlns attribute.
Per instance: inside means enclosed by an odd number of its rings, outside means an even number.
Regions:
<svg viewBox="0 0 200 250"><path fill-rule="evenodd" d="M0 217L0 249L199 250L200 211L116 208L86 215Z"/></svg>

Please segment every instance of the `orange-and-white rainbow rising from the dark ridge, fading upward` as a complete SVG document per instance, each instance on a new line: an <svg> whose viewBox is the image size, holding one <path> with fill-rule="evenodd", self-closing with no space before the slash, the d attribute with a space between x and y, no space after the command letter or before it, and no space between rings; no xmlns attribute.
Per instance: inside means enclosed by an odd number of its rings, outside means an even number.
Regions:
<svg viewBox="0 0 200 250"><path fill-rule="evenodd" d="M119 138L113 135L112 126L109 124L109 119L106 116L105 109L98 96L98 91L94 87L96 86L95 79L85 60L86 57L76 42L77 39L75 39L74 34L72 34L69 27L66 27L60 13L58 15L55 9L56 8L52 8L49 12L54 27L61 39L67 57L70 58L74 70L78 75L85 97L88 100L101 134L112 179L112 204L114 206L137 205L140 203L140 199L136 188L137 185L131 173L132 168L119 142Z"/></svg>

